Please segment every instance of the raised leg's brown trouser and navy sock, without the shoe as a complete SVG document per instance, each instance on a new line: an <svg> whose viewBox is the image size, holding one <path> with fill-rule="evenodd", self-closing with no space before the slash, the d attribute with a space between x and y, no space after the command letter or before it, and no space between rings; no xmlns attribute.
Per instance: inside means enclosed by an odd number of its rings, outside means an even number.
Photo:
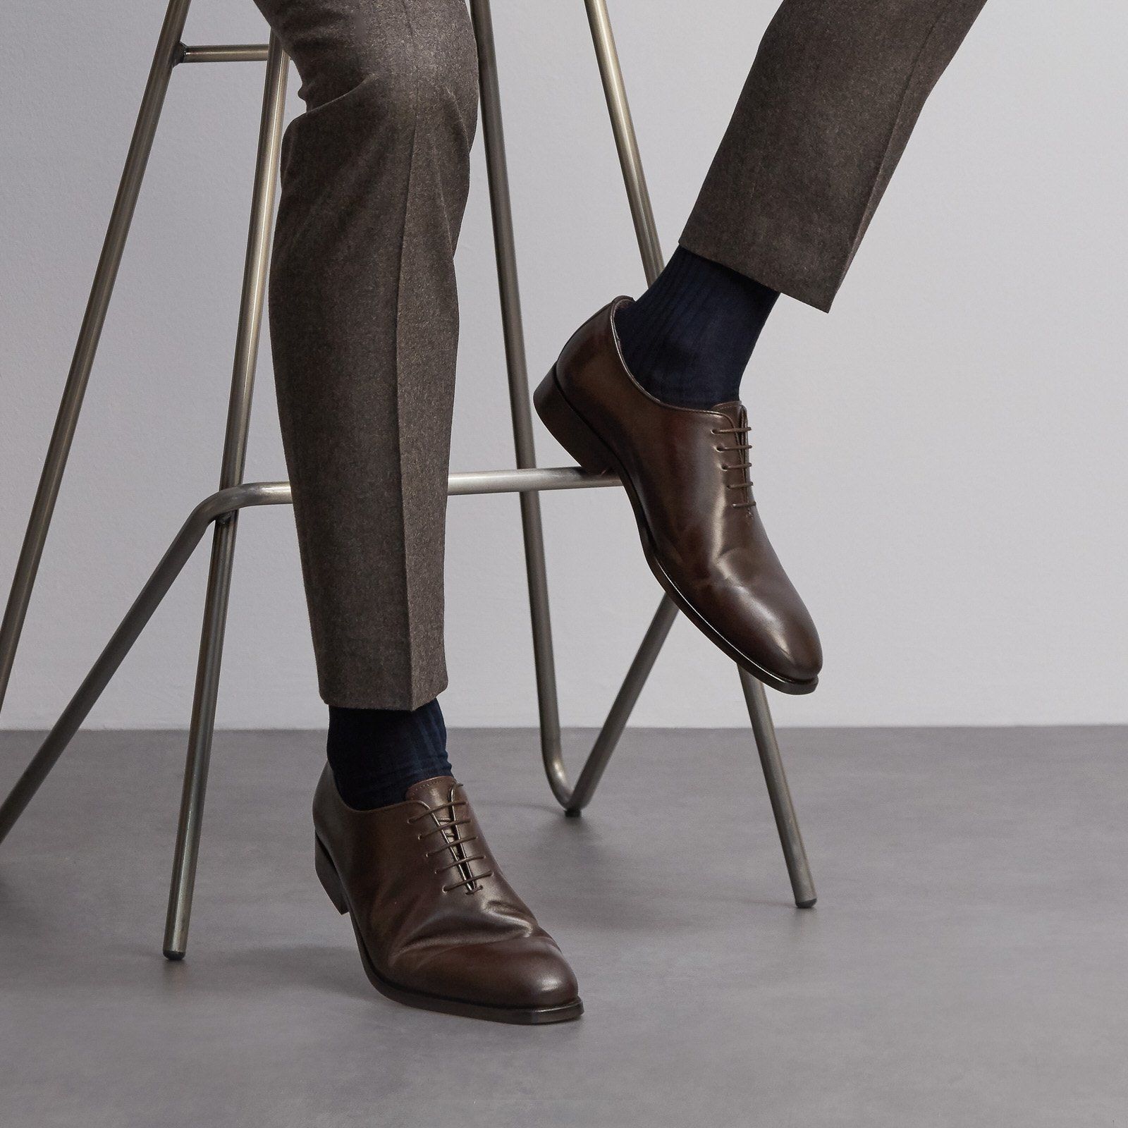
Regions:
<svg viewBox="0 0 1128 1128"><path fill-rule="evenodd" d="M829 309L925 98L986 0L786 0L680 246L618 315L635 378L710 407L778 293Z"/></svg>

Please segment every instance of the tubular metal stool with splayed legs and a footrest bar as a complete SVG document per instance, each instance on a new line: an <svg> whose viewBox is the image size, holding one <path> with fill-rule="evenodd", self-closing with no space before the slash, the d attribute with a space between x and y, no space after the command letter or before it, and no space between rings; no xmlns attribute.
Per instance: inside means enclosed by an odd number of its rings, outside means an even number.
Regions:
<svg viewBox="0 0 1128 1128"><path fill-rule="evenodd" d="M27 534L16 567L11 593L8 598L3 622L0 624L0 704L2 704L43 553L44 540L82 406L82 396L94 364L106 310L113 293L114 280L121 264L130 222L133 218L133 210L173 70L180 63L265 61L266 86L258 134L250 231L247 239L247 257L239 306L235 369L220 469L220 488L205 497L188 515L149 581L141 589L133 606L79 686L78 691L63 710L39 750L0 807L0 840L2 840L82 724L165 593L208 531L209 526L214 525L203 634L200 643L187 763L184 773L184 792L180 800L173 880L165 924L164 952L170 960L182 959L187 945L188 917L192 909L192 891L200 848L208 763L215 723L215 699L239 511L252 505L280 505L291 501L290 486L285 482L243 481L250 398L262 326L289 60L274 36L271 36L270 43L266 45L185 46L182 42L182 35L190 3L191 0L169 0L165 15L165 23L160 30L152 68L149 71L149 80L141 100L141 109L133 130L125 168L103 245L102 257L98 262L74 350L74 358L67 378L59 416L47 449ZM584 0L584 3L591 24L596 58L607 98L615 143L623 167L631 214L638 238L646 279L650 282L658 276L662 268L662 255L638 158L638 147L627 106L615 39L607 15L607 5L606 0ZM541 756L553 794L566 814L576 817L591 801L596 792L608 760L626 728L638 694L642 691L654 660L669 634L677 616L677 609L668 598L662 598L579 779L574 787L570 786L561 750L559 710L552 626L548 615L548 585L545 574L539 492L543 490L614 486L618 485L618 482L609 476L585 474L579 467L547 469L538 468L536 465L490 0L470 0L470 14L478 51L482 129L488 170L490 205L497 259L497 282L501 294L501 317L504 331L505 365L509 377L517 468L452 474L448 492L451 495L517 493L520 496L540 714ZM803 840L800 836L799 823L787 790L787 781L779 759L779 749L764 686L742 670L740 671L740 681L748 703L752 732L764 767L772 810L783 844L795 904L800 908L809 908L814 905L814 884L811 880Z"/></svg>

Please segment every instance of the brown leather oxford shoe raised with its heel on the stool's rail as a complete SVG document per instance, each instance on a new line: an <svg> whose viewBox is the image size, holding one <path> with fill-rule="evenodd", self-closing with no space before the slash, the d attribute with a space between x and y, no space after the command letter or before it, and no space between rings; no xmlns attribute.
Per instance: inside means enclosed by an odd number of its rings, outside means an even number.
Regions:
<svg viewBox="0 0 1128 1128"><path fill-rule="evenodd" d="M646 562L690 622L761 681L808 694L822 651L756 509L744 408L673 407L645 391L615 333L629 301L580 326L537 388L537 414L585 470L618 474Z"/></svg>

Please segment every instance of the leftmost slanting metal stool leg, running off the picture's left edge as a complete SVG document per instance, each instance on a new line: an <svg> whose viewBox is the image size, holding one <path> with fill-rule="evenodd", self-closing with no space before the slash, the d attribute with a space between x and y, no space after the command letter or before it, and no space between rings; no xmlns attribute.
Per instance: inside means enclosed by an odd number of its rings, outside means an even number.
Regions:
<svg viewBox="0 0 1128 1128"><path fill-rule="evenodd" d="M24 619L27 616L27 605L32 599L32 588L35 585L39 559L43 556L43 545L47 539L55 501L59 497L59 487L62 484L63 472L67 469L67 459L74 439L74 429L78 426L79 413L82 409L82 397L86 395L90 369L94 367L94 358L98 351L98 341L106 321L106 310L114 292L117 268L125 250L125 240L130 233L133 211L141 192L146 165L152 150L152 139L157 132L157 123L160 121L161 107L165 104L168 80L178 60L180 35L188 16L190 2L191 0L169 0L165 21L157 39L152 67L149 70L149 80L141 98L141 108L138 112L136 124L133 126L133 136L125 158L125 167L122 169L117 196L109 215L109 226L102 245L102 255L95 271L90 297L87 299L78 343L74 346L74 355L71 359L67 385L59 404L59 414L55 417L47 456L39 475L39 485L32 505L32 515L16 564L11 592L8 596L3 622L0 623L0 706L3 705L12 663L16 661L16 649L19 645Z"/></svg>

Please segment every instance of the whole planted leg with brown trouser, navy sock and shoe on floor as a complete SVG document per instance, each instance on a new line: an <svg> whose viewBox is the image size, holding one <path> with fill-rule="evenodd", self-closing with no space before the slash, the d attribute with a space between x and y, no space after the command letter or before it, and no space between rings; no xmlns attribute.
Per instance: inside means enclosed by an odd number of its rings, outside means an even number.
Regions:
<svg viewBox="0 0 1128 1128"><path fill-rule="evenodd" d="M435 696L458 305L477 116L462 0L256 0L302 79L271 341L329 765L317 872L399 1002L576 1017L575 980L450 775Z"/></svg>

